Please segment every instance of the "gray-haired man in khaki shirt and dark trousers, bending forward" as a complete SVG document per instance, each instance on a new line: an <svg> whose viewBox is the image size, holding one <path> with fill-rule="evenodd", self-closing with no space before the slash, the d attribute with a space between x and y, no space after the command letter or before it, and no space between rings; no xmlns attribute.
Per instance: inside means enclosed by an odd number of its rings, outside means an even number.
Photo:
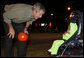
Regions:
<svg viewBox="0 0 84 58"><path fill-rule="evenodd" d="M27 28L33 21L41 18L45 13L45 8L41 3L36 3L33 6L28 4L12 4L5 6L3 13L4 27L6 31L5 38L5 56L13 56L13 39L18 33L24 32L28 34ZM17 56L26 56L27 41L19 41L17 39Z"/></svg>

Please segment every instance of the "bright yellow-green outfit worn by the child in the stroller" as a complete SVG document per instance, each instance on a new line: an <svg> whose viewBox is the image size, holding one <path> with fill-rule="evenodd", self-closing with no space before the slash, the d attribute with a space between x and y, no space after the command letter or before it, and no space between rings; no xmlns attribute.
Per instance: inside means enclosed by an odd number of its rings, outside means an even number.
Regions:
<svg viewBox="0 0 84 58"><path fill-rule="evenodd" d="M76 23L70 23L70 33L63 34L63 39L68 40L76 31L78 27ZM64 43L64 40L55 40L52 44L52 47L48 50L52 55L56 55L59 47Z"/></svg>

